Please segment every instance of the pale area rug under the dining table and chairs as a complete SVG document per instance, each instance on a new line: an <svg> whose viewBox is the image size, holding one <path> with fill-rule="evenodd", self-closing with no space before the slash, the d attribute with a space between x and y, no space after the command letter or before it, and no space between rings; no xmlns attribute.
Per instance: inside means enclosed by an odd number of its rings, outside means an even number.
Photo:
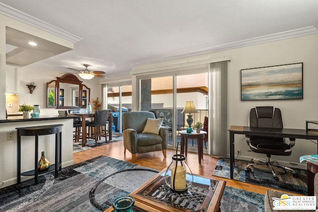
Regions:
<svg viewBox="0 0 318 212"><path fill-rule="evenodd" d="M107 139L108 139L108 137L107 137ZM110 141L107 140L107 142L105 142L105 137L101 137L100 141L97 141L97 146L102 146L102 145L112 143L112 142L117 142L117 141L123 141L123 137L122 136L112 136L112 140L110 140ZM91 148L95 148L97 146L96 146L94 139L87 139L85 146L81 146L81 140L79 140L79 141L73 143L73 153L76 153L79 151L84 151L84 150L91 149Z"/></svg>

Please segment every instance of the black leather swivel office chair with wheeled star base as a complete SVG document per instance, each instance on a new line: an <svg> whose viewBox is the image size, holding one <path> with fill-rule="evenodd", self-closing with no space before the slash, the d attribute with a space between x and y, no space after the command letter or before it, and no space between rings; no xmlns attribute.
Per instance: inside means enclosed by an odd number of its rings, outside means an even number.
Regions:
<svg viewBox="0 0 318 212"><path fill-rule="evenodd" d="M249 127L258 128L283 128L282 115L279 108L274 107L255 107L249 112ZM298 177L297 173L286 166L279 165L276 161L270 161L270 156L273 155L291 155L292 147L295 145L295 139L290 139L290 143L285 143L285 138L264 137L264 136L248 136L246 141L251 151L266 154L266 161L260 159L252 159L251 163L246 166L248 171L251 171L250 166L267 165L270 167L274 179L279 181L272 166L282 168L293 172L294 177ZM257 162L254 162L257 161Z"/></svg>

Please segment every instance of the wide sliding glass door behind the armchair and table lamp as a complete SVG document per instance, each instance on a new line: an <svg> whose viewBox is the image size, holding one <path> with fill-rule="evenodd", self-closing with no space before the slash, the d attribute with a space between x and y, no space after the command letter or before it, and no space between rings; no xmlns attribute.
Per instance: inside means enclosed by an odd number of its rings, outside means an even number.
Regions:
<svg viewBox="0 0 318 212"><path fill-rule="evenodd" d="M186 101L193 101L198 110L198 113L191 114L193 125L203 123L204 117L208 116L208 71L193 72L139 78L138 108L153 112L156 118L163 118L163 126L169 129L169 148L176 147L180 141L178 132L188 127L187 116L181 113ZM188 150L197 151L197 141L189 140Z"/></svg>

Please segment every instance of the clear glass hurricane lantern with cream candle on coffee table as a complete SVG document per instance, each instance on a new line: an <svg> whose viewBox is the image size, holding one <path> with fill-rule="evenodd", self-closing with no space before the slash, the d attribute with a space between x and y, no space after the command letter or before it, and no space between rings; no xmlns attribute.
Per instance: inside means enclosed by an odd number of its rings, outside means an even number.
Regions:
<svg viewBox="0 0 318 212"><path fill-rule="evenodd" d="M193 175L190 167L185 162L185 155L178 154L178 145L176 154L172 155L172 162L164 173L164 181L172 192L183 193L191 187Z"/></svg>

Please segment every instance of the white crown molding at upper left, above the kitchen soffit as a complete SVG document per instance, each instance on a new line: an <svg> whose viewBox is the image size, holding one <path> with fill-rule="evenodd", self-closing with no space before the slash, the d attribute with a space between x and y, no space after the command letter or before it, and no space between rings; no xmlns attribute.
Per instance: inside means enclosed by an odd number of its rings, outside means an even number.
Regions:
<svg viewBox="0 0 318 212"><path fill-rule="evenodd" d="M43 31L46 31L48 33L51 33L53 35L59 36L61 38L64 38L68 41L71 41L73 43L79 42L80 40L83 40L83 38L72 34L68 31L65 31L63 29L60 29L56 26L53 26L52 24L49 24L45 21L42 21L36 17L33 17L31 15L28 15L20 10L17 10L13 7L10 7L4 3L0 2L0 14L5 15L7 17L13 18L15 20L21 21L22 23L28 24L30 26L34 26L36 28L39 28Z"/></svg>

